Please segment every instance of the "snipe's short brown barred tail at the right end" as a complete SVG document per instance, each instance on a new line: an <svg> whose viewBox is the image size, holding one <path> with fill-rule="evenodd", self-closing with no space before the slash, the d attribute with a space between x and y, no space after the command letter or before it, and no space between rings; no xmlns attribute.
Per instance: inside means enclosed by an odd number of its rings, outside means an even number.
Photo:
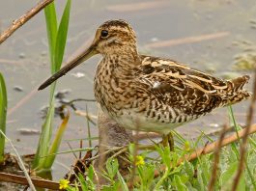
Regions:
<svg viewBox="0 0 256 191"><path fill-rule="evenodd" d="M248 83L250 77L248 75L243 75L236 79L228 81L228 99L225 105L232 105L234 103L240 102L251 96L251 93L243 90L243 86Z"/></svg>

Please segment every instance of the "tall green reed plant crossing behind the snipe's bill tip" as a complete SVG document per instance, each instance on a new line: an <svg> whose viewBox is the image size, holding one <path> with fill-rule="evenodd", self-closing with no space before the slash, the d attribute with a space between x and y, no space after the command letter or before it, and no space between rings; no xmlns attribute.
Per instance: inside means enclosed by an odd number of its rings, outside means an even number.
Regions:
<svg viewBox="0 0 256 191"><path fill-rule="evenodd" d="M51 73L55 73L61 68L69 29L70 10L71 0L67 0L65 10L61 17L61 22L58 26L54 3L49 4L44 9L49 54L51 61ZM54 117L55 87L56 82L54 82L50 87L49 109L46 115L45 122L42 126L42 134L40 137L37 153L33 162L33 168L38 172L43 170L49 170L51 168L55 156L49 156L46 158L43 156L47 156L58 151L64 130L67 125L67 119L65 119L62 125L59 127L58 133L55 137L55 140L53 141L53 144L50 145L52 123Z"/></svg>

